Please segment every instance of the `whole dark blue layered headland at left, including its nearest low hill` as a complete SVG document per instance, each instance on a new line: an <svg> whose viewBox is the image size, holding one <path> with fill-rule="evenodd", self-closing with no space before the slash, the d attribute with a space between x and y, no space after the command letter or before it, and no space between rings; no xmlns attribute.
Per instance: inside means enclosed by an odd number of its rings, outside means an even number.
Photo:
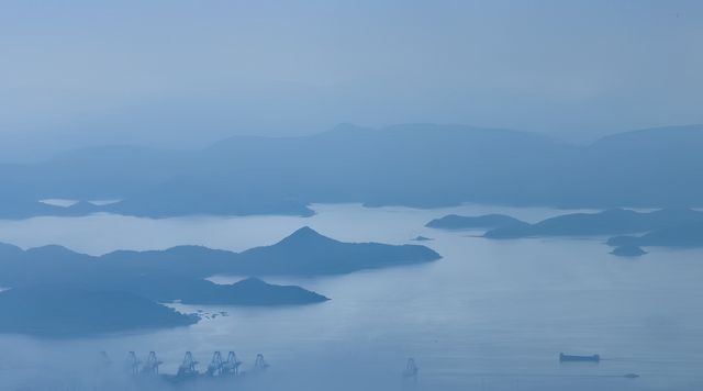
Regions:
<svg viewBox="0 0 703 391"><path fill-rule="evenodd" d="M23 250L0 244L0 287L11 288L0 292L0 332L82 335L197 321L157 304L165 302L249 306L320 303L328 299L295 286L269 284L258 278L216 284L205 278L215 273L345 273L438 258L424 246L343 243L310 227L271 246L238 254L178 246L90 256L54 245Z"/></svg>

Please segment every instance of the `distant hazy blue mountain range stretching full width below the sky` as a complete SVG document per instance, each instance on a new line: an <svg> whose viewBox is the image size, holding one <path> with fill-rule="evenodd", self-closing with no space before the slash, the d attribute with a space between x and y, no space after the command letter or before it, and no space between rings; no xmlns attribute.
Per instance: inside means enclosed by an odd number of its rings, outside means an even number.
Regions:
<svg viewBox="0 0 703 391"><path fill-rule="evenodd" d="M96 211L37 203L47 198L120 199L97 210L150 217L310 215L306 205L314 202L696 206L703 200L700 150L700 125L574 146L525 132L433 124L237 136L194 152L89 148L42 164L0 165L0 216Z"/></svg>

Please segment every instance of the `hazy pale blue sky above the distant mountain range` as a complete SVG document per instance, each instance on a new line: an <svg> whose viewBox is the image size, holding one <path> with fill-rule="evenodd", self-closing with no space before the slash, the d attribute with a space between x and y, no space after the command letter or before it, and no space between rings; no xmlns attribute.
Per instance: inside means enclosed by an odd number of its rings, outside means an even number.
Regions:
<svg viewBox="0 0 703 391"><path fill-rule="evenodd" d="M0 53L5 146L703 123L701 1L2 0Z"/></svg>

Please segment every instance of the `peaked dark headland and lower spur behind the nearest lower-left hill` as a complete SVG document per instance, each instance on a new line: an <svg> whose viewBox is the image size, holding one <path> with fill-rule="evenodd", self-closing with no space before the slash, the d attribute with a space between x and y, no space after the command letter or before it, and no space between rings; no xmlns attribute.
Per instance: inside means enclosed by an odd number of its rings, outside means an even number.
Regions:
<svg viewBox="0 0 703 391"><path fill-rule="evenodd" d="M179 246L166 250L114 252L89 256L60 246L22 250L0 245L0 287L70 284L129 291L157 302L283 305L327 300L298 287L244 280L215 284L207 277L330 275L436 260L424 246L343 243L303 227L281 242L244 253Z"/></svg>

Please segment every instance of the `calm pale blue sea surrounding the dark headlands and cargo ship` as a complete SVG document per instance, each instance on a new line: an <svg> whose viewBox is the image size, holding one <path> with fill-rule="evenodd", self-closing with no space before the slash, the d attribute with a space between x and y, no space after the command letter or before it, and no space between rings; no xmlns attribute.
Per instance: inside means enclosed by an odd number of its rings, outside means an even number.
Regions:
<svg viewBox="0 0 703 391"><path fill-rule="evenodd" d="M57 361L107 350L156 350L163 371L186 350L203 364L236 350L266 355L287 389L391 389L408 357L427 390L700 390L703 387L703 252L650 249L609 255L604 238L488 241L480 232L425 228L447 213L506 213L537 221L565 211L465 205L442 210L314 205L312 217L146 220L115 215L0 221L0 242L62 244L103 254L118 248L201 244L242 250L309 225L350 242L412 243L444 256L421 266L325 278L268 278L332 301L302 308L178 306L227 316L197 325L71 340L0 336L0 378L35 377ZM215 276L234 282L242 276ZM3 316L9 314L3 314ZM600 354L598 365L558 362L560 351ZM51 358L51 359L47 359ZM80 357L80 358L79 358ZM201 365L201 368L203 366ZM44 372L46 373L46 372ZM637 373L627 379L626 373ZM391 387L392 386L392 387ZM281 387L282 389L283 387Z"/></svg>

